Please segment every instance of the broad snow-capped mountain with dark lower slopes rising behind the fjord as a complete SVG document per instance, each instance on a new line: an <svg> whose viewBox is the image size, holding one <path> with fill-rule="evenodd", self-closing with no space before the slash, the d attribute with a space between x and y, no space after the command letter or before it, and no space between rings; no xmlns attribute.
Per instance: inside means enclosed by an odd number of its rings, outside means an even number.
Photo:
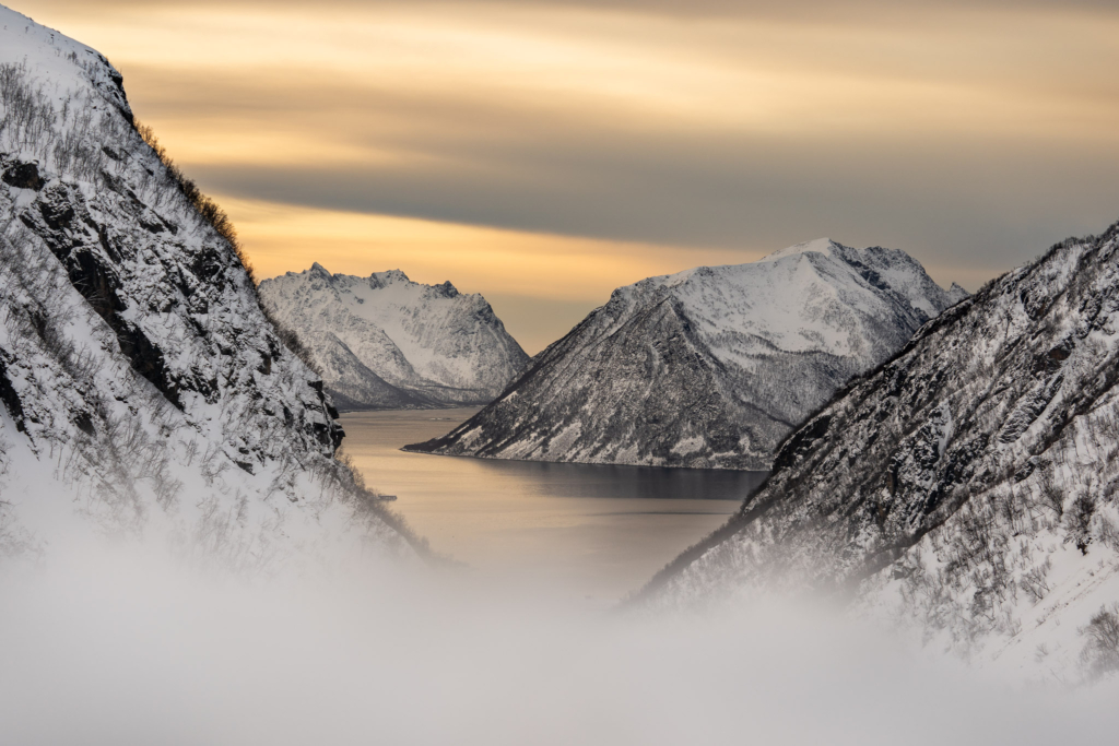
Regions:
<svg viewBox="0 0 1119 746"><path fill-rule="evenodd" d="M904 252L827 238L649 277L615 290L472 419L407 450L767 470L848 378L966 295Z"/></svg>

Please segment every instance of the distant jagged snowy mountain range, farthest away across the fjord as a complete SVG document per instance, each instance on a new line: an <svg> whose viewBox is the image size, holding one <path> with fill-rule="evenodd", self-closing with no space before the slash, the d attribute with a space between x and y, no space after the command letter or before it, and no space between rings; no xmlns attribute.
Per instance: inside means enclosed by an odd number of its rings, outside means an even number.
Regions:
<svg viewBox="0 0 1119 746"><path fill-rule="evenodd" d="M422 285L399 270L332 275L316 263L260 293L344 408L489 404L528 362L486 299L450 282Z"/></svg>

